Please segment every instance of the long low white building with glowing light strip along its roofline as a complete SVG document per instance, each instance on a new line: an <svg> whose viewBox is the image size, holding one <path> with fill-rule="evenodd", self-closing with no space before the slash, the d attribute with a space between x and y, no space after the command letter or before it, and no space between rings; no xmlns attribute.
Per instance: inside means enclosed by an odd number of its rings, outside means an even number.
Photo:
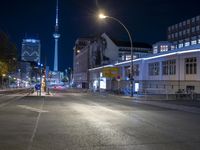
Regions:
<svg viewBox="0 0 200 150"><path fill-rule="evenodd" d="M129 60L90 69L90 88L98 84L105 90L130 89L130 65ZM134 91L174 94L181 89L200 93L199 66L200 44L134 59ZM118 67L120 80L103 77L105 67Z"/></svg>

